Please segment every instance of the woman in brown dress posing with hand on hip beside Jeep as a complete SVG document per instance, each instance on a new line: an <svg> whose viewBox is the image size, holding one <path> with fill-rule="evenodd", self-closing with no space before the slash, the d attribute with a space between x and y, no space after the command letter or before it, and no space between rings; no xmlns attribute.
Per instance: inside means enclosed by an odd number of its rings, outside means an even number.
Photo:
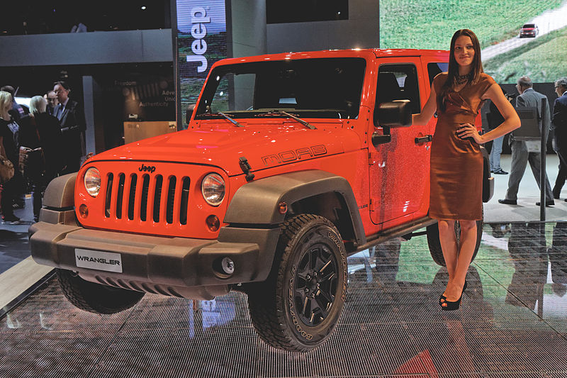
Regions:
<svg viewBox="0 0 567 378"><path fill-rule="evenodd" d="M479 135L473 125L483 100L498 107L504 122ZM476 245L476 221L482 218L483 157L480 145L520 127L514 108L492 77L483 73L481 46L468 29L451 39L449 70L434 78L430 98L412 123L425 125L437 112L431 146L430 217L439 220L439 241L449 282L439 305L456 310ZM455 221L461 225L456 243Z"/></svg>

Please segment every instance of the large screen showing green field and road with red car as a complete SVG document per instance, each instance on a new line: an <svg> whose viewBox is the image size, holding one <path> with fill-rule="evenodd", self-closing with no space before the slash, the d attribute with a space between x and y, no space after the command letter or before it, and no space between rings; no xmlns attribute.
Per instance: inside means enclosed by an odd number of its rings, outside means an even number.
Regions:
<svg viewBox="0 0 567 378"><path fill-rule="evenodd" d="M473 30L484 71L498 83L567 76L563 0L381 0L380 48L449 50L456 30Z"/></svg>

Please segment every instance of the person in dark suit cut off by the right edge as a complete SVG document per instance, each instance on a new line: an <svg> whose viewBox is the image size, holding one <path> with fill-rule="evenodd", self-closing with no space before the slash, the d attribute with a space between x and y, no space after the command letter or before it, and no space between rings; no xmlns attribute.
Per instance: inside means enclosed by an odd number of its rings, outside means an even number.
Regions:
<svg viewBox="0 0 567 378"><path fill-rule="evenodd" d="M567 179L567 77L555 81L555 93L558 97L554 103L554 115L551 121L554 128L554 150L559 157L559 172L552 191L554 198L559 199Z"/></svg>

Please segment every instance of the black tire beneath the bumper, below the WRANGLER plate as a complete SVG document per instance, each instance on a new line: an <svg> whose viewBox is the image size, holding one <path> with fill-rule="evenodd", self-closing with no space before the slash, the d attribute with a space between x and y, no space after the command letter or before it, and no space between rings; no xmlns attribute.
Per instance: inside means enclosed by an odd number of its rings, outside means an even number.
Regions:
<svg viewBox="0 0 567 378"><path fill-rule="evenodd" d="M92 313L118 313L140 301L145 293L95 284L66 269L55 269L64 296L74 306Z"/></svg>

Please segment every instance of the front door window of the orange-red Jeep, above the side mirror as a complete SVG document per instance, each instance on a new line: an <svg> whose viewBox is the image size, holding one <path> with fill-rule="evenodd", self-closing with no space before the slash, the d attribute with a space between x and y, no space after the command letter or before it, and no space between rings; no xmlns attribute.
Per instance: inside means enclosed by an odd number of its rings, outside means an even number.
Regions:
<svg viewBox="0 0 567 378"><path fill-rule="evenodd" d="M410 100L412 113L420 113L420 87L415 65L381 65L378 69L377 104L394 100Z"/></svg>

